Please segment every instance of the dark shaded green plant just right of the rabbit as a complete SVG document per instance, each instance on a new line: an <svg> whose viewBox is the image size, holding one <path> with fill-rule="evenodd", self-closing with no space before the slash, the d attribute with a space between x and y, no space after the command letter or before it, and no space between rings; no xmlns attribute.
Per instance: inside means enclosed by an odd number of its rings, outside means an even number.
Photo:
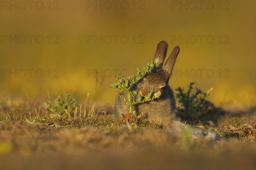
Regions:
<svg viewBox="0 0 256 170"><path fill-rule="evenodd" d="M206 92L203 92L197 87L193 87L195 83L191 82L188 85L187 91L184 88L178 87L177 90L177 101L182 104L184 109L179 108L180 116L182 118L197 119L200 115L207 112L207 98L213 88L210 88Z"/></svg>

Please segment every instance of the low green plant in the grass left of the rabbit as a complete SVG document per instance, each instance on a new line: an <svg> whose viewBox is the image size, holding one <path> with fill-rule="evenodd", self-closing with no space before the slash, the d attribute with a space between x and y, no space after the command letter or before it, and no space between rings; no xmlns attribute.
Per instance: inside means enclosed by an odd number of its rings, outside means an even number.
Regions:
<svg viewBox="0 0 256 170"><path fill-rule="evenodd" d="M76 99L73 96L73 93L63 93L63 96L57 94L54 100L54 104L45 103L47 108L52 112L59 112L60 115L70 118L73 117L74 112L76 111Z"/></svg>

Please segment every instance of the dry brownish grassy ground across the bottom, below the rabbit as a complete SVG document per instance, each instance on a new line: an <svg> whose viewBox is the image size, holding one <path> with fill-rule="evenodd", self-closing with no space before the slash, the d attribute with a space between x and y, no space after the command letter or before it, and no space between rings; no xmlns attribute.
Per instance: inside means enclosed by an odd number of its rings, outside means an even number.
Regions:
<svg viewBox="0 0 256 170"><path fill-rule="evenodd" d="M167 130L97 110L71 119L45 109L0 116L1 169L256 168L255 110Z"/></svg>

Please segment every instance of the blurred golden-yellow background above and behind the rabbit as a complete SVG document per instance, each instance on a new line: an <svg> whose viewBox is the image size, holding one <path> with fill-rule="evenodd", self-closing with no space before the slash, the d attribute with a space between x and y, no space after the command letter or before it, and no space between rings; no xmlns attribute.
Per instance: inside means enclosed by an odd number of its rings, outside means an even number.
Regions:
<svg viewBox="0 0 256 170"><path fill-rule="evenodd" d="M10 2L1 1L2 101L46 101L48 91L51 99L74 92L83 100L95 89L97 70L99 83L105 78L95 100L114 103L115 73L133 75L166 40L167 55L180 46L172 89L195 81L214 88L215 104L255 105L255 1Z"/></svg>

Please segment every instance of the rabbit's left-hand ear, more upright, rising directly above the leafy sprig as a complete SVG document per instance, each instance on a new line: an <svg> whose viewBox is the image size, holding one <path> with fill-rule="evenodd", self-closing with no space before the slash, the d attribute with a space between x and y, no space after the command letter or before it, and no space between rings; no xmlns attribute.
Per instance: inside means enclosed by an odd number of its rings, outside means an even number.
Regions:
<svg viewBox="0 0 256 170"><path fill-rule="evenodd" d="M157 69L161 69L163 67L163 61L166 57L167 49L168 49L168 43L166 41L161 41L157 45L157 51L155 52L155 55L154 55L154 60L159 58L159 61L156 64Z"/></svg>

